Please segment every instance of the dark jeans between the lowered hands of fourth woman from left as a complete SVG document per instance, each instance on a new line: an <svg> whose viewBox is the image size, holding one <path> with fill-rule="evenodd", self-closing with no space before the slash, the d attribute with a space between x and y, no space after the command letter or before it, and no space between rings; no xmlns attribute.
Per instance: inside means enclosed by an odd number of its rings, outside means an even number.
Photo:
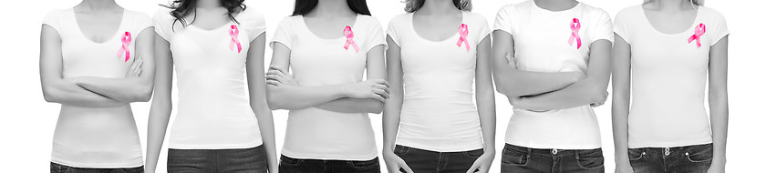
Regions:
<svg viewBox="0 0 766 173"><path fill-rule="evenodd" d="M437 152L397 145L394 154L404 159L415 172L465 173L484 154L484 149L460 152ZM399 169L404 172L404 169Z"/></svg>

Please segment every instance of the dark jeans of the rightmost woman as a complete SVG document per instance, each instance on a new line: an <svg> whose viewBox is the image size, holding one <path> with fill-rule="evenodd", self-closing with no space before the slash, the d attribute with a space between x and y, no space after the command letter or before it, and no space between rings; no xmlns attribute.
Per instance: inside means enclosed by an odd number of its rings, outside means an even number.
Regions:
<svg viewBox="0 0 766 173"><path fill-rule="evenodd" d="M713 144L677 148L627 149L630 167L636 173L708 172L713 159Z"/></svg>

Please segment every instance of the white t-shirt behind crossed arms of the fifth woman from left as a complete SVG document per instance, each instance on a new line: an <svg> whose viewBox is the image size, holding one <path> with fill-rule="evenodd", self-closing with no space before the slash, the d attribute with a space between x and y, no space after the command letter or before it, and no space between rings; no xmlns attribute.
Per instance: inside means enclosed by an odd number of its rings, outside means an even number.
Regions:
<svg viewBox="0 0 766 173"><path fill-rule="evenodd" d="M574 18L580 22L579 48L576 39L569 44L576 30L571 27ZM590 44L614 37L609 15L584 3L558 12L540 8L532 0L505 5L494 27L513 36L514 56L525 71L585 73ZM589 105L543 112L514 107L505 142L527 148L601 148L598 121Z"/></svg>

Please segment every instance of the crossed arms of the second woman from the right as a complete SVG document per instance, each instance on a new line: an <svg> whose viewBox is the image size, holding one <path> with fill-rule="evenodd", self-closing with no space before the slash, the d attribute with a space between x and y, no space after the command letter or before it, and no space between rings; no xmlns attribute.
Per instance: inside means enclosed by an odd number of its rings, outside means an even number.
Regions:
<svg viewBox="0 0 766 173"><path fill-rule="evenodd" d="M492 51L493 72L498 91L512 100L514 107L553 110L594 104L606 98L611 73L611 46L608 40L590 45L590 60L585 78L576 72L541 73L513 68L506 55L512 53L513 38L498 30Z"/></svg>

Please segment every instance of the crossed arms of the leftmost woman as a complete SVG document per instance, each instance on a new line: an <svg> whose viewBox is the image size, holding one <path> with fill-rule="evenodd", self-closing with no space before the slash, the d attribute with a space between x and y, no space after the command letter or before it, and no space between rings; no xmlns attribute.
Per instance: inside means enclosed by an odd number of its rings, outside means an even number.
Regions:
<svg viewBox="0 0 766 173"><path fill-rule="evenodd" d="M62 75L61 37L56 29L43 25L40 36L43 96L47 102L76 107L119 107L130 102L148 101L154 78L154 56L151 55L153 37L153 27L148 27L136 39L136 51L140 58L133 58L133 65L142 67L139 71L129 71L135 76L65 78Z"/></svg>

